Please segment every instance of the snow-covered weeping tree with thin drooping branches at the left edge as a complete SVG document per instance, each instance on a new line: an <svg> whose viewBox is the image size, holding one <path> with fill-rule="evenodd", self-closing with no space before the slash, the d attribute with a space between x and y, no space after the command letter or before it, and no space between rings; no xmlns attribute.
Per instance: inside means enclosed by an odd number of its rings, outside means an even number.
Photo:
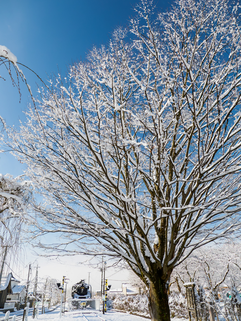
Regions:
<svg viewBox="0 0 241 321"><path fill-rule="evenodd" d="M1 71L6 68L7 74L10 76L13 86L17 87L20 99L20 80L22 80L27 85L28 90L31 94L30 86L27 84L26 78L17 64L17 57L13 55L13 53L7 47L1 45L0 67ZM0 76L0 81L2 80L5 79ZM4 129L6 129L6 123L1 116L0 124L0 147L3 147L4 141L6 139L6 137L4 137ZM0 149L0 153L4 151L4 149ZM30 199L32 200L32 192L30 190L30 186L31 182L26 181L24 179L24 175L13 178L13 176L9 174L0 174L0 257L1 261L5 261L5 263L9 263L11 259L15 261L13 263L16 263L16 253L19 253L21 249L22 223L27 215L27 203ZM6 268L8 269L9 266L7 266Z"/></svg>

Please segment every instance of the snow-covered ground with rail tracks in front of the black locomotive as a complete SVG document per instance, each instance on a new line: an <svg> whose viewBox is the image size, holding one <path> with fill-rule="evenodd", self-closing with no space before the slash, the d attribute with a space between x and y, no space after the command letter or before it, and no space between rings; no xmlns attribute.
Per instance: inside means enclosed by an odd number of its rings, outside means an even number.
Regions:
<svg viewBox="0 0 241 321"><path fill-rule="evenodd" d="M39 315L38 319L41 321L85 321L85 319L81 316L83 312L84 316L87 318L88 321L96 321L101 319L94 318L90 311L71 311L65 312L65 314L59 318L59 308L49 313L45 313ZM102 312L93 311L94 314L102 317L106 321L148 321L150 319L133 316L129 313L117 312L117 311L108 311L103 315ZM28 317L28 321L32 321L32 317ZM172 321L188 321L187 319L172 319Z"/></svg>

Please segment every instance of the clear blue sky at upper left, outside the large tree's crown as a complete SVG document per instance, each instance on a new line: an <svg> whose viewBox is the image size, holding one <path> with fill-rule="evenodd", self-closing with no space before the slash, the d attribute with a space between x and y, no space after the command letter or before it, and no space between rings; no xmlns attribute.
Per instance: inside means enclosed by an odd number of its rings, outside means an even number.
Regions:
<svg viewBox="0 0 241 321"><path fill-rule="evenodd" d="M118 25L126 25L134 15L133 0L7 0L1 1L0 45L9 48L18 62L41 77L58 68L65 72L71 60L85 59L92 45L105 44ZM170 6L160 0L157 10ZM37 78L22 68L34 94ZM22 98L9 76L0 68L0 115L7 124L24 119L29 93L21 83ZM21 174L21 165L9 155L0 155L0 173Z"/></svg>

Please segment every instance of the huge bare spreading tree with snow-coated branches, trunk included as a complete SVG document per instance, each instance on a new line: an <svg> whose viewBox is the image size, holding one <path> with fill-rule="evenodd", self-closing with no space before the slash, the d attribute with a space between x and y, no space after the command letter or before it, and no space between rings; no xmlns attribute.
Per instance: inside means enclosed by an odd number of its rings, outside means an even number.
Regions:
<svg viewBox="0 0 241 321"><path fill-rule="evenodd" d="M153 321L170 320L174 267L239 233L240 44L230 2L156 14L143 0L128 30L40 88L12 134L45 197L34 235L65 235L52 254L124 259L149 289Z"/></svg>

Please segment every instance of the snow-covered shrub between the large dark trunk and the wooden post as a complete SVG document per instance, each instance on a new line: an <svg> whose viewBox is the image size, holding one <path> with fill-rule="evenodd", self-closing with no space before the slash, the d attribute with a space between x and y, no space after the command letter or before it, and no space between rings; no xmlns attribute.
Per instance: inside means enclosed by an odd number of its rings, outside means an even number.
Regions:
<svg viewBox="0 0 241 321"><path fill-rule="evenodd" d="M169 296L169 306L172 318L188 317L187 300L182 293L172 292Z"/></svg>

